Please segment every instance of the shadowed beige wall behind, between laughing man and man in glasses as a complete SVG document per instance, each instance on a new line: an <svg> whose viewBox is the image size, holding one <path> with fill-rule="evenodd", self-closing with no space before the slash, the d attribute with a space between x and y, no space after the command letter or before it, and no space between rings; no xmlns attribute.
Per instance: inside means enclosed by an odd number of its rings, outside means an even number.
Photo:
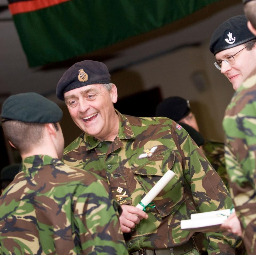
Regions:
<svg viewBox="0 0 256 255"><path fill-rule="evenodd" d="M234 91L231 83L213 65L209 42L186 47L111 74L119 98L159 86L162 97L189 99L205 139L223 140L222 118ZM205 86L198 89L192 74L203 73Z"/></svg>

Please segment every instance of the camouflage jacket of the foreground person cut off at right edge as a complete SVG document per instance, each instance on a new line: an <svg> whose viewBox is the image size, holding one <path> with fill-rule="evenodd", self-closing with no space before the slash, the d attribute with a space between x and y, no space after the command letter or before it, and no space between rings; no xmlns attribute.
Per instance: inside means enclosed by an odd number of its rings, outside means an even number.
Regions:
<svg viewBox="0 0 256 255"><path fill-rule="evenodd" d="M247 254L256 254L256 75L236 91L223 120L230 192Z"/></svg>

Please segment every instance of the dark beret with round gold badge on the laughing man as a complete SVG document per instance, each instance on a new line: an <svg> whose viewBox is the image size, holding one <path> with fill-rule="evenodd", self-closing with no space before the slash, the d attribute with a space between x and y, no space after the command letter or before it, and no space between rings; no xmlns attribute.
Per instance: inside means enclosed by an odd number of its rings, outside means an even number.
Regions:
<svg viewBox="0 0 256 255"><path fill-rule="evenodd" d="M111 83L109 70L102 62L84 60L75 63L63 74L58 82L56 95L64 100L63 94L90 84Z"/></svg>

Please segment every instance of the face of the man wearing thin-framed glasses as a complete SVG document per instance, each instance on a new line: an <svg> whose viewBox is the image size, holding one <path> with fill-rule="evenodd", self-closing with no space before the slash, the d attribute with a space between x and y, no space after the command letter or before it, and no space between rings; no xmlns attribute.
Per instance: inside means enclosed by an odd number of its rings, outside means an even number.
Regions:
<svg viewBox="0 0 256 255"><path fill-rule="evenodd" d="M235 55L238 51L244 48L244 44L236 47L226 49L215 55L216 60L223 60L227 55ZM237 90L243 81L245 81L249 74L256 68L256 47L254 46L251 51L243 49L234 56L235 63L228 65L222 61L221 73L223 73L233 85L233 89Z"/></svg>

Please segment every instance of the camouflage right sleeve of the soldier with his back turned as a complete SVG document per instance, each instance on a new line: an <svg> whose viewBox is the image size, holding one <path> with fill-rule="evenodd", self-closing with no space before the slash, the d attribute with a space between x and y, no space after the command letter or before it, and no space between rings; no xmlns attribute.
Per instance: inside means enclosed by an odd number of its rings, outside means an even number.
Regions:
<svg viewBox="0 0 256 255"><path fill-rule="evenodd" d="M118 221L118 212L107 184L102 180L80 187L74 203L75 228L83 254L128 255Z"/></svg>

